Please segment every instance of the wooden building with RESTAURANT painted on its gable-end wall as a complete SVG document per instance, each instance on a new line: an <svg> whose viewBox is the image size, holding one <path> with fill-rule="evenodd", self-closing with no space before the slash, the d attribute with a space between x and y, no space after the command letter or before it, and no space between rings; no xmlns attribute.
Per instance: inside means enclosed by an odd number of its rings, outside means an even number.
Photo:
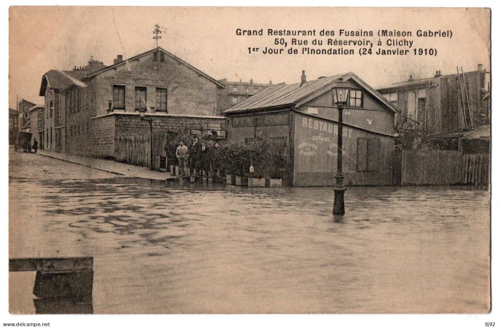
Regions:
<svg viewBox="0 0 498 327"><path fill-rule="evenodd" d="M346 185L391 185L394 114L398 109L354 73L275 85L226 110L227 141L259 137L285 141L284 184L334 185L338 109L332 89L350 87L344 108L343 173Z"/></svg>

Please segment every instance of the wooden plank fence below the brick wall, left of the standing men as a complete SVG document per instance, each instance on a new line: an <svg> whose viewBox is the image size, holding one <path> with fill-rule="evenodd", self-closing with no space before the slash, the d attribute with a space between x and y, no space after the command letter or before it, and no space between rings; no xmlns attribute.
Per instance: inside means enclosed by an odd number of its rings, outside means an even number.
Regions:
<svg viewBox="0 0 498 327"><path fill-rule="evenodd" d="M165 136L152 135L152 169L159 168L159 156L164 153ZM150 135L129 135L116 138L116 161L150 168Z"/></svg>

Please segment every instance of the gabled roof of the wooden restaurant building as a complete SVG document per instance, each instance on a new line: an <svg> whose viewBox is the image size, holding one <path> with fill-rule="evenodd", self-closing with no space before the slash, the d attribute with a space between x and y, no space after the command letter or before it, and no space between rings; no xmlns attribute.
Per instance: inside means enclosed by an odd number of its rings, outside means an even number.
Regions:
<svg viewBox="0 0 498 327"><path fill-rule="evenodd" d="M341 80L355 81L365 90L370 92L373 97L384 104L387 108L391 109L395 113L399 113L399 110L396 107L394 107L390 102L382 97L370 85L356 76L356 74L349 72L309 81L303 86L300 86L300 83L289 85L278 84L259 91L252 97L244 100L243 102L235 105L230 109L225 110L224 112L222 112L222 114L291 105L293 105L294 107L299 107L304 103L329 91L330 89L332 89L336 82L339 82Z"/></svg>

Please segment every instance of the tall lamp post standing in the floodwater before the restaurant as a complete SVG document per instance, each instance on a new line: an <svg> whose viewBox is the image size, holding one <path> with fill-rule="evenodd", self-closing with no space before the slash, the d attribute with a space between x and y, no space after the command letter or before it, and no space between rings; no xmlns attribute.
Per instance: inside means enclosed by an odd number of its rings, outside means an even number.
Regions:
<svg viewBox="0 0 498 327"><path fill-rule="evenodd" d="M344 82L339 82L344 83ZM339 84L338 83L338 84ZM344 85L344 84L343 84ZM337 130L337 174L335 176L336 185L334 187L334 209L333 215L344 216L344 174L342 173L342 125L343 109L348 103L349 87L339 85L332 89L334 100L339 111L338 130Z"/></svg>

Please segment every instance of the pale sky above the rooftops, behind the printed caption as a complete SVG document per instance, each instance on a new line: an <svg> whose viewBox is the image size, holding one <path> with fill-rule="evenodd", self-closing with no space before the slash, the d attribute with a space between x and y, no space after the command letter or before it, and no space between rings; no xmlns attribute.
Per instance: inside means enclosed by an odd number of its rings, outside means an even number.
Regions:
<svg viewBox="0 0 498 327"><path fill-rule="evenodd" d="M113 19L114 18L114 19ZM116 22L116 24L114 23ZM456 73L482 63L490 67L490 22L485 9L306 8L306 7L10 7L9 107L20 99L42 104L41 77L50 69L84 66L91 55L111 65L118 54L131 57L153 47L158 23L166 31L159 45L215 79L297 83L353 71L373 87L441 70ZM237 36L236 29L263 28L263 36ZM271 47L266 29L452 30L450 38L407 38L415 47L437 48L430 56L334 56L249 54L248 47ZM118 35L119 34L119 35ZM121 41L120 41L121 37ZM290 39L285 37L289 43ZM305 37L312 40L314 37ZM332 38L340 38L336 36ZM363 39L356 37L351 39ZM321 37L326 42L326 37ZM343 39L342 37L340 39ZM385 40L386 38L382 38ZM401 39L401 38L396 38ZM123 45L122 45L122 43ZM274 46L276 47L276 46ZM330 46L323 46L330 47ZM335 48L335 47L334 47ZM358 53L358 46L353 46ZM384 47L395 49L396 47ZM411 50L412 51L412 50Z"/></svg>

